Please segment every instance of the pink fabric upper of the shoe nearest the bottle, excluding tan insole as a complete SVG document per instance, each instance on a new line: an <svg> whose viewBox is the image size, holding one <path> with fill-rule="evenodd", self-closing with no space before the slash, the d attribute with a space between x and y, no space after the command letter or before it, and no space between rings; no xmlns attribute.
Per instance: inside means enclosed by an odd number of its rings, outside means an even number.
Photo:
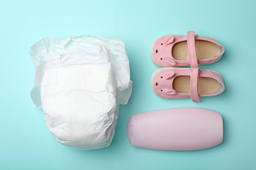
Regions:
<svg viewBox="0 0 256 170"><path fill-rule="evenodd" d="M194 69L196 70L196 68ZM193 93L177 93L173 89L173 80L177 76L191 76L191 75L198 76L198 77L214 78L215 80L221 83L221 86L219 90L211 94L204 94L204 95L198 94L198 91ZM190 84L192 84L191 79L190 79ZM192 84L192 88L190 89L191 92L193 88L198 88L198 79L196 80L196 83ZM215 71L203 70L203 69L199 71L198 69L198 73L197 73L197 72L193 72L192 69L187 69L187 68L166 67L166 68L158 69L153 73L152 89L157 95L166 99L188 98L188 97L192 97L192 95L197 95L199 101L195 100L195 102L200 102L200 97L209 97L209 96L214 96L222 93L224 91L224 82L223 82L222 76ZM196 99L196 97L194 96L194 99Z"/></svg>

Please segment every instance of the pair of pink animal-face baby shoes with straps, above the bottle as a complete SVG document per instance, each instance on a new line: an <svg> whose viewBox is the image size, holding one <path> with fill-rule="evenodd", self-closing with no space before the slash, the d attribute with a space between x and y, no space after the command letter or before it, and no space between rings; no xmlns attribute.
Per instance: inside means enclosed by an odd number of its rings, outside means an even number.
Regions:
<svg viewBox="0 0 256 170"><path fill-rule="evenodd" d="M199 69L199 64L221 59L224 46L210 37L200 37L194 31L187 35L166 35L158 38L151 48L151 59L163 68L151 78L154 92L167 99L214 96L224 91L222 76L216 71ZM188 66L182 68L179 66Z"/></svg>

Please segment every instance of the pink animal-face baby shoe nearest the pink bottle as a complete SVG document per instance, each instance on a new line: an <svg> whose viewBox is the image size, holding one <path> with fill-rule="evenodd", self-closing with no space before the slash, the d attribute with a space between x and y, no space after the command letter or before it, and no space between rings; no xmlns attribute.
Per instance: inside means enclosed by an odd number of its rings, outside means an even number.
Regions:
<svg viewBox="0 0 256 170"><path fill-rule="evenodd" d="M224 91L222 76L216 71L193 67L163 67L156 70L151 86L160 97L178 99L191 97L200 102L200 97L214 96Z"/></svg>

